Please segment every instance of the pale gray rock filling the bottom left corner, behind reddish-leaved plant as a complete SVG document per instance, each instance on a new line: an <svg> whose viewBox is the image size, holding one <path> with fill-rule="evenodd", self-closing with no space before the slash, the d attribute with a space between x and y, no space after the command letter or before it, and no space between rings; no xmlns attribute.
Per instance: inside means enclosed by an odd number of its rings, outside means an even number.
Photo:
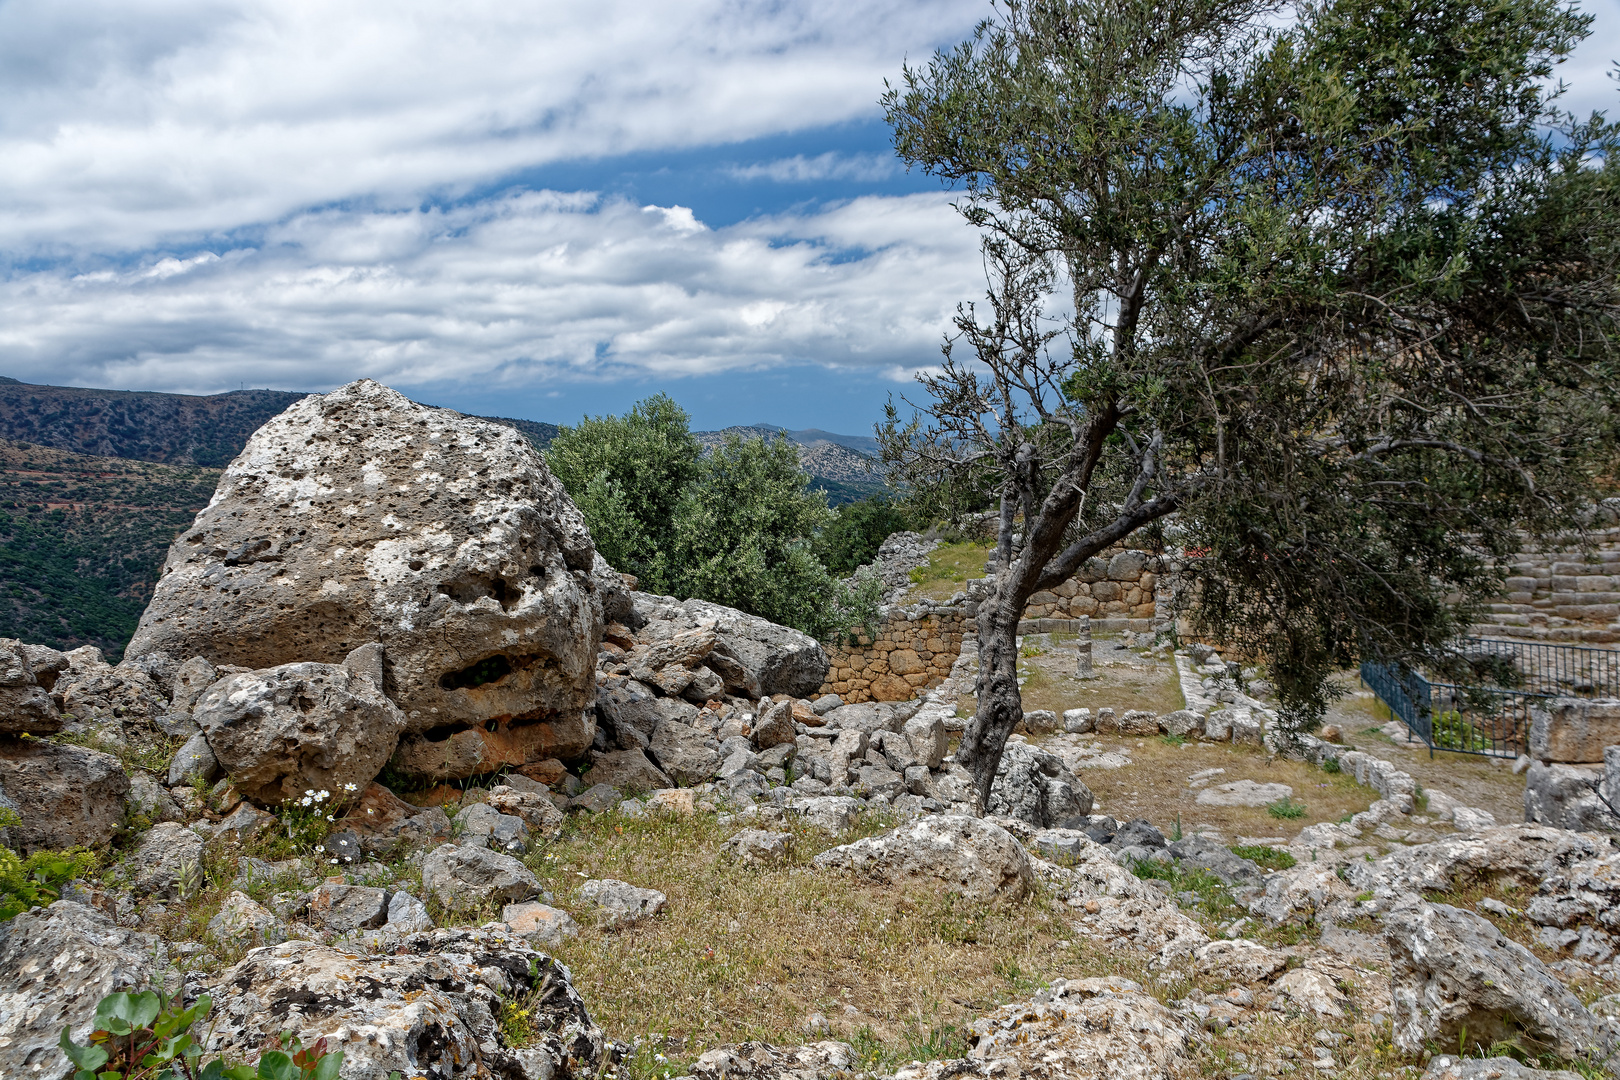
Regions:
<svg viewBox="0 0 1620 1080"><path fill-rule="evenodd" d="M62 1028L89 1041L96 1004L151 984L165 965L162 941L71 900L0 923L0 1077L70 1077Z"/></svg>

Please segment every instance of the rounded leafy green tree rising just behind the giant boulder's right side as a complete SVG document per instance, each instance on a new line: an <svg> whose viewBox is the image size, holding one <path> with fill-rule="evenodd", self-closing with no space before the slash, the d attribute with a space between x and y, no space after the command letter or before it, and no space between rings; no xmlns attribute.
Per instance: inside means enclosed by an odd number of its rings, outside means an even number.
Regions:
<svg viewBox="0 0 1620 1080"><path fill-rule="evenodd" d="M663 588L656 562L672 541L676 502L701 471L685 410L656 393L624 416L586 416L546 447L546 465L585 515L596 551Z"/></svg>

